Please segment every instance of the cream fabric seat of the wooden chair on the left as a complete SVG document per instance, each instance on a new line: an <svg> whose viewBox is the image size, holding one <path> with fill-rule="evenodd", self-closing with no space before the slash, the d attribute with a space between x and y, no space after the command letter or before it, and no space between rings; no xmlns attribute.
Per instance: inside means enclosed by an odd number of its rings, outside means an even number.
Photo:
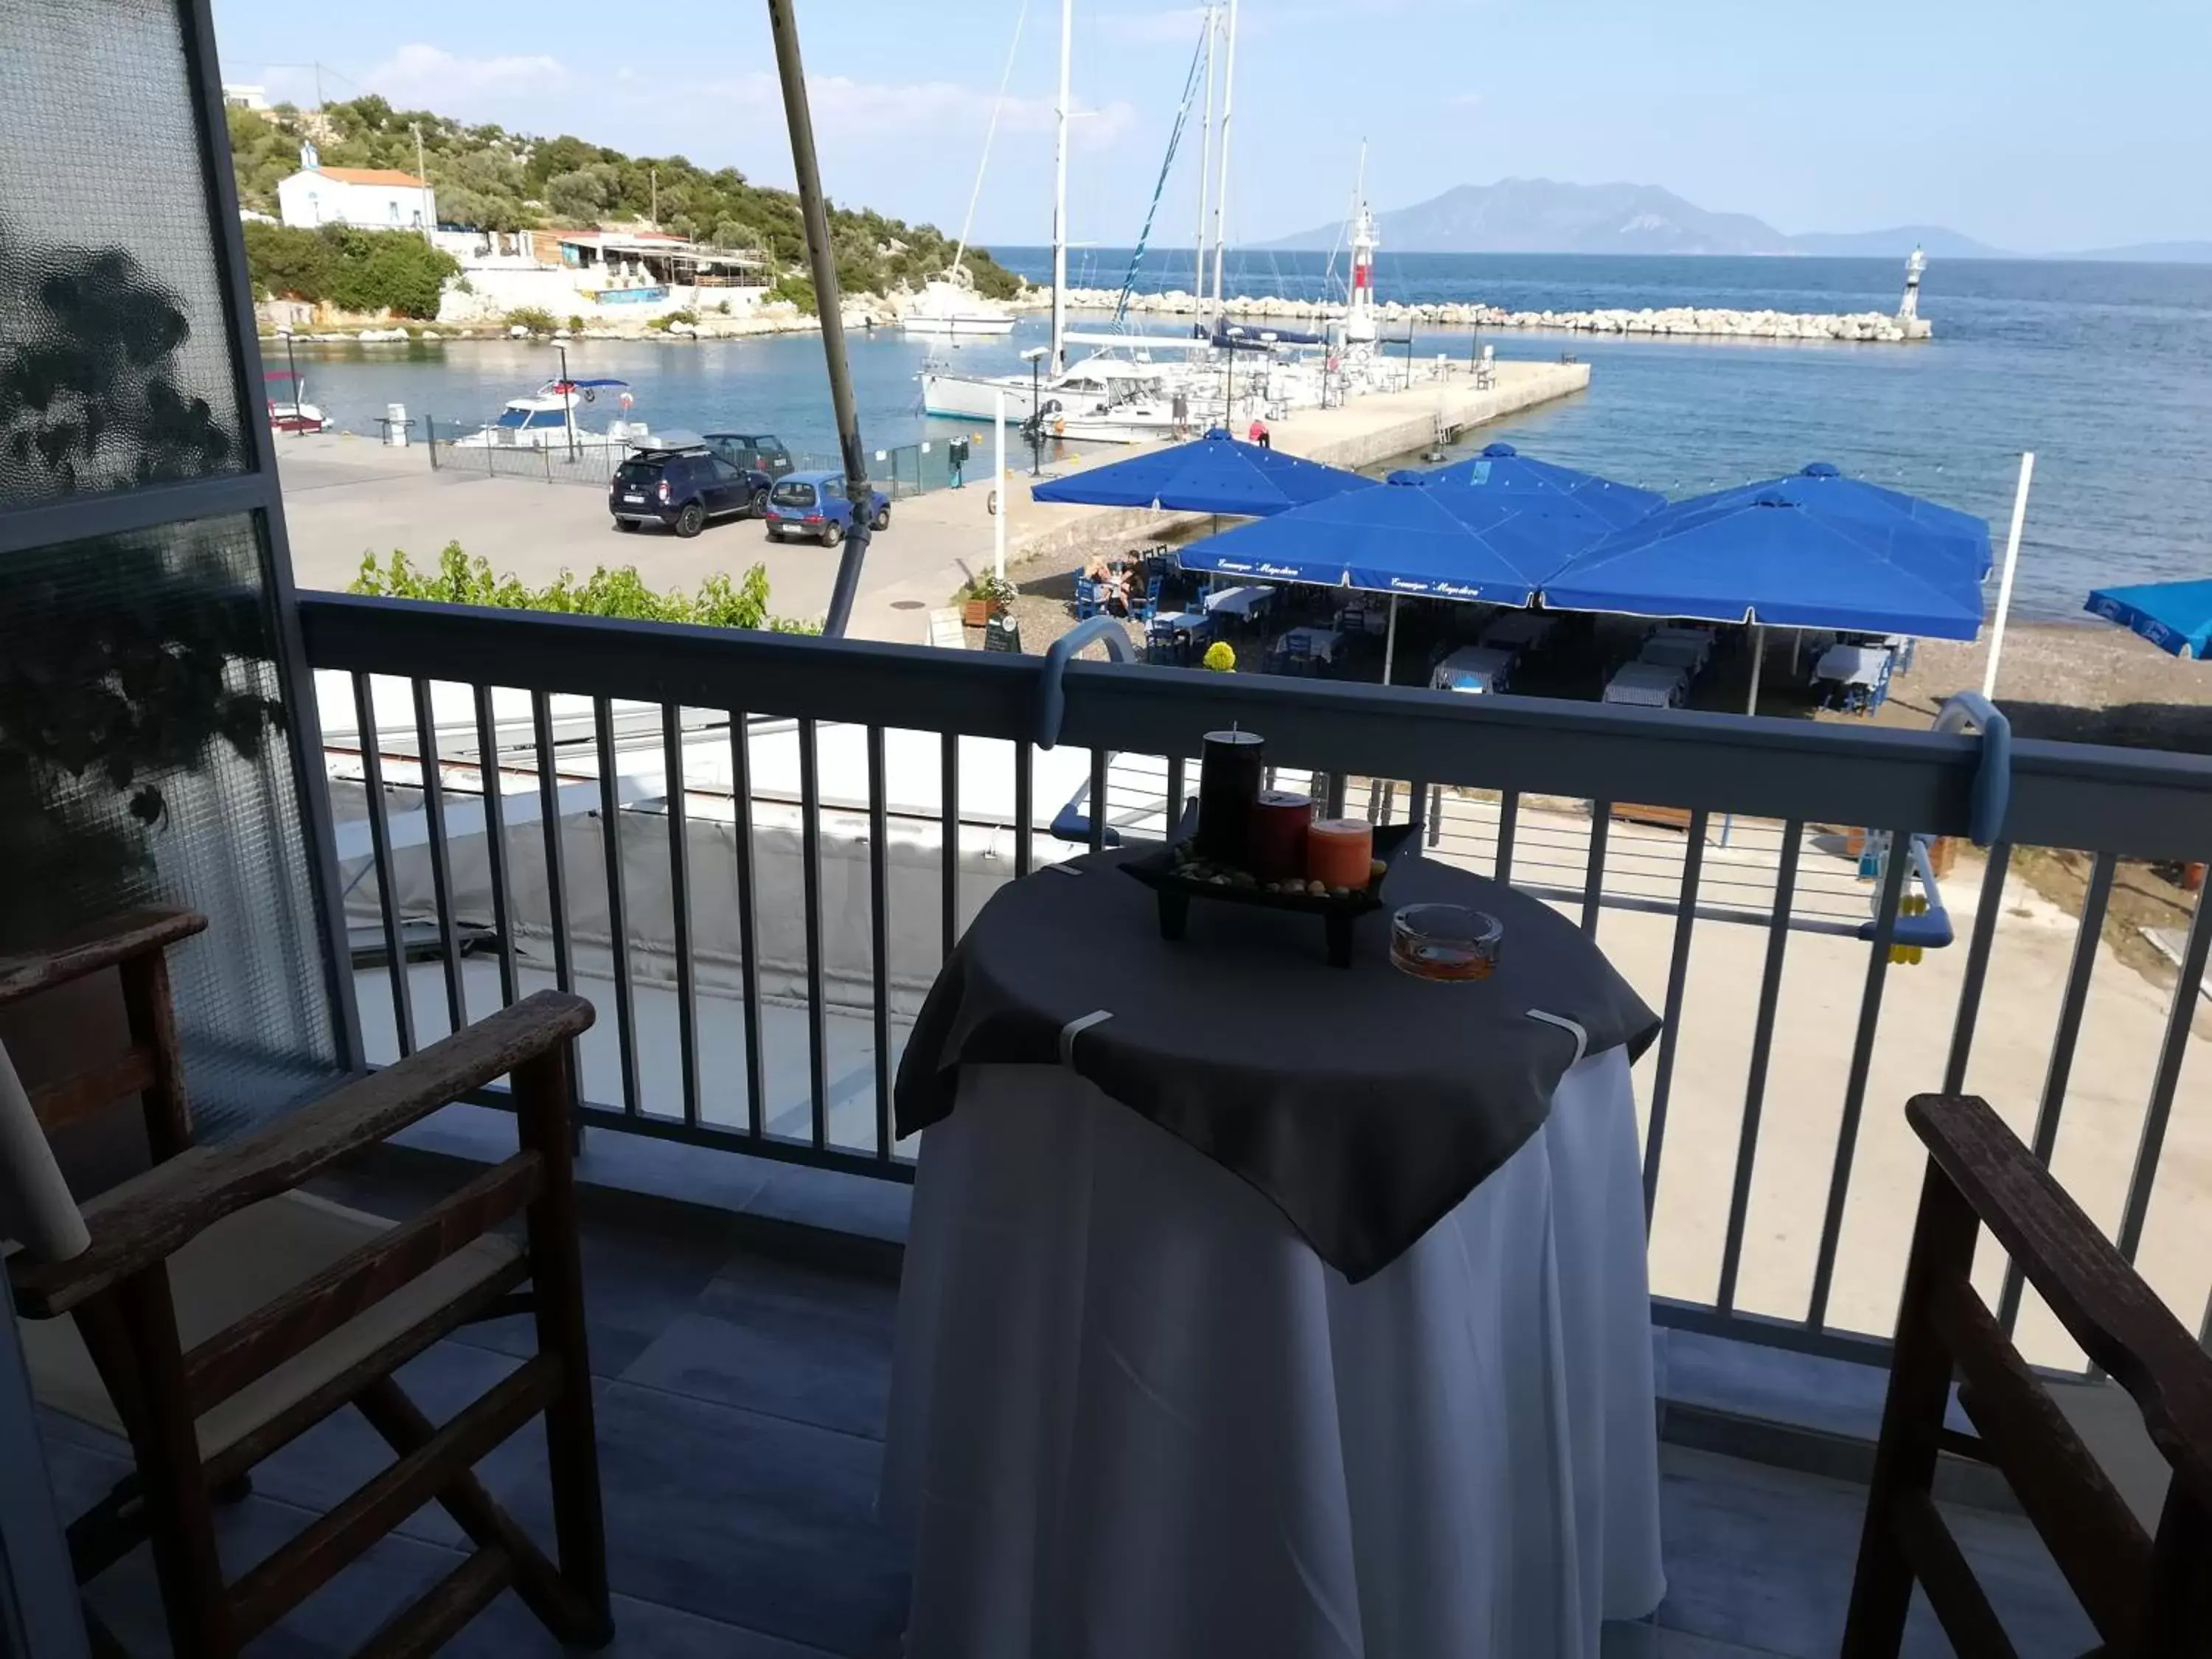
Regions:
<svg viewBox="0 0 2212 1659"><path fill-rule="evenodd" d="M307 1192L283 1192L223 1217L168 1259L177 1334L186 1352L389 1228L383 1217ZM487 1234L409 1279L330 1336L201 1413L199 1455L217 1455L520 1256L513 1239ZM73 1318L27 1318L20 1321L20 1332L31 1389L42 1405L124 1433L122 1416Z"/></svg>

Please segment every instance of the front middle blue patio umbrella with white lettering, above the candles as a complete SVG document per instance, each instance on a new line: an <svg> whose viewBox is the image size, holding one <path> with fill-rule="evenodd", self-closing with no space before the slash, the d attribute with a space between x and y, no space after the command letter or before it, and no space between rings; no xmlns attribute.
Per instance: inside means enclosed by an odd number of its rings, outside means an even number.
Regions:
<svg viewBox="0 0 2212 1659"><path fill-rule="evenodd" d="M1387 679L1400 597L1524 606L1551 571L1604 533L1604 518L1566 498L1537 511L1524 498L1391 473L1380 489L1239 524L1179 557L1186 571L1391 595Z"/></svg>

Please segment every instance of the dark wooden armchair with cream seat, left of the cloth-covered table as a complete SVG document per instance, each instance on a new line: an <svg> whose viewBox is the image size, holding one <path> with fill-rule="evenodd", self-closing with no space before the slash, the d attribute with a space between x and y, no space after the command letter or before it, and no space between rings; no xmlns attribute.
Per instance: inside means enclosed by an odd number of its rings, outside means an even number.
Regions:
<svg viewBox="0 0 2212 1659"><path fill-rule="evenodd" d="M204 927L186 911L139 911L0 958L0 1006L113 967L131 1013L122 1057L35 1097L0 1055L0 1146L13 1148L0 1186L18 1208L44 1208L27 1228L33 1243L7 1263L33 1391L128 1438L137 1460L137 1480L71 1526L77 1579L150 1540L170 1646L228 1659L436 1500L476 1551L363 1655L429 1652L509 1586L560 1639L604 1646L613 1621L568 1126L571 1042L591 1026L591 1004L540 991L257 1133L190 1146L161 951ZM513 1077L520 1150L420 1217L394 1225L296 1190L500 1075ZM157 1161L80 1210L40 1128L133 1091ZM491 1232L515 1214L522 1241ZM460 1325L518 1312L535 1316L538 1354L442 1427L392 1380ZM212 1506L347 1405L396 1460L226 1584ZM471 1473L540 1413L560 1568Z"/></svg>

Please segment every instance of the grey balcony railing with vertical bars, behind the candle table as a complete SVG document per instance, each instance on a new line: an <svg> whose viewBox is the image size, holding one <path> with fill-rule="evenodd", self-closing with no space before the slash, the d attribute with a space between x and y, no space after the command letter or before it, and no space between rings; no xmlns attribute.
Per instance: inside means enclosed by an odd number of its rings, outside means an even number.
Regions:
<svg viewBox="0 0 2212 1659"><path fill-rule="evenodd" d="M1040 657L330 595L299 617L369 1060L562 984L602 1002L591 1124L909 1179L889 1079L964 920L1071 852L1062 801L1091 845L1157 834L1234 723L1340 810L1418 803L1433 856L1566 909L1666 1013L1639 1077L1661 1321L1878 1360L1920 1168L1900 1106L1960 1086L2205 1310L2212 1124L2174 1104L2212 909L2172 987L2106 920L2124 860L2212 854L2212 759L1086 661L1055 699ZM1964 836L1993 763L2000 838L1942 883L1955 942L1893 962L1918 880L1860 880L1843 832ZM2077 914L2015 849L2081 856ZM2077 1363L1993 1274L2031 1356Z"/></svg>

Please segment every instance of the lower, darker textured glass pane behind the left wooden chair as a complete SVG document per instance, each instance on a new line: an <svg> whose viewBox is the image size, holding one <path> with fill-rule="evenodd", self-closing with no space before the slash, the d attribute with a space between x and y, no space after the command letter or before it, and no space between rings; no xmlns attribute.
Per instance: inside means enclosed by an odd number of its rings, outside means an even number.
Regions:
<svg viewBox="0 0 2212 1659"><path fill-rule="evenodd" d="M201 1133L336 1064L254 518L0 553L0 949L188 905L170 951Z"/></svg>

